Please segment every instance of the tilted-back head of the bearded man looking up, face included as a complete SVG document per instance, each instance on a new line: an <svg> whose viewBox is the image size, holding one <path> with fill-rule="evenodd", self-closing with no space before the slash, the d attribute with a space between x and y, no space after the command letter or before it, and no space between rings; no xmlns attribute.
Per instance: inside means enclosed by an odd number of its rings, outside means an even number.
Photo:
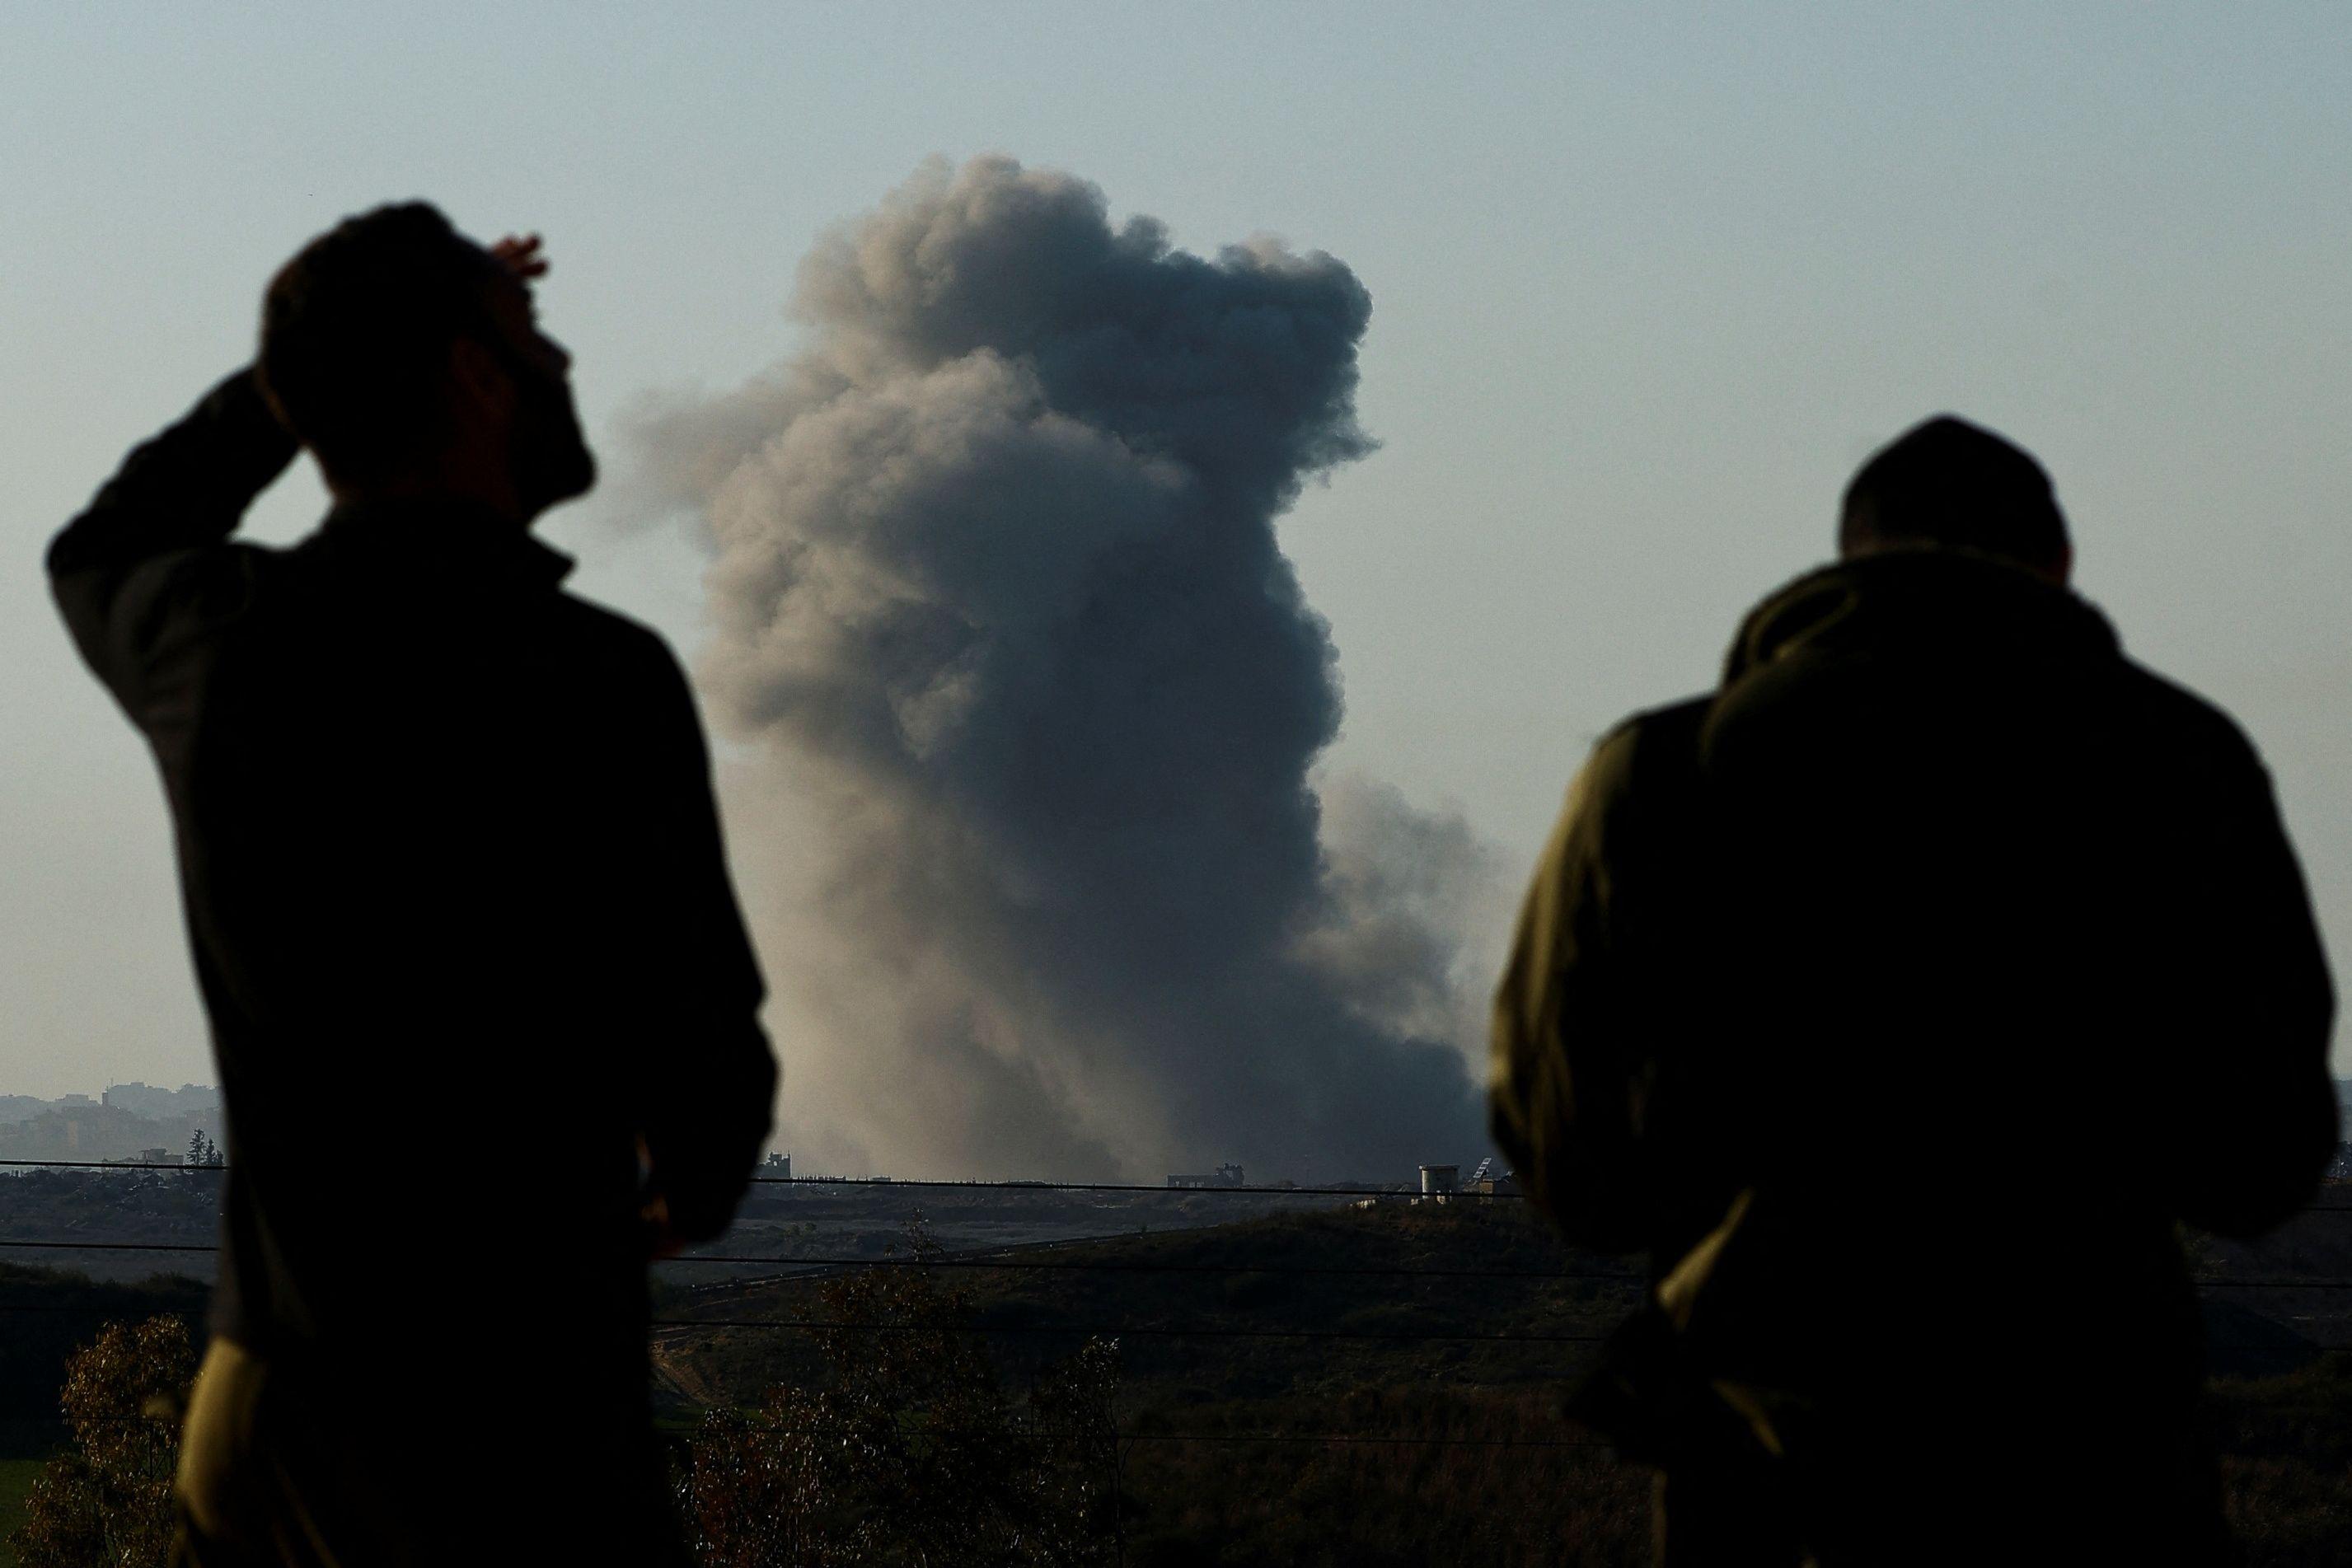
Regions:
<svg viewBox="0 0 2352 1568"><path fill-rule="evenodd" d="M261 386L336 496L454 491L529 522L595 482L527 270L426 202L346 219L280 268Z"/></svg>

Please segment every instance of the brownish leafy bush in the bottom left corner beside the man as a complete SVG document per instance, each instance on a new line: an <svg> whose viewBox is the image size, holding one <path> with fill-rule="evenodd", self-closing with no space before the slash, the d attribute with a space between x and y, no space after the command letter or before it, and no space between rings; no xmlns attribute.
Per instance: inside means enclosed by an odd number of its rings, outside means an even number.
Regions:
<svg viewBox="0 0 2352 1568"><path fill-rule="evenodd" d="M73 1448L26 1495L7 1540L19 1568L162 1568L193 1380L195 1345L176 1316L108 1324L73 1352L59 1399Z"/></svg>

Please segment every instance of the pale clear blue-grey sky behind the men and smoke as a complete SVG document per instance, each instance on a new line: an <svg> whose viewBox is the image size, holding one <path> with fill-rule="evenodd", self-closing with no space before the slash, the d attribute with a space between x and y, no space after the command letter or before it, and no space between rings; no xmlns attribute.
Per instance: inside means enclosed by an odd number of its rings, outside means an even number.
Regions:
<svg viewBox="0 0 2352 1568"><path fill-rule="evenodd" d="M9 7L0 125L0 1091L212 1081L153 766L40 550L249 355L268 273L393 197L541 230L621 480L630 400L790 353L809 242L929 153L1371 289L1383 449L1282 531L1334 764L1524 865L1592 736L1710 684L1853 463L1952 409L2051 468L2126 649L2253 733L2352 959L2340 5ZM691 656L696 548L623 491L543 534ZM299 470L254 531L320 508Z"/></svg>

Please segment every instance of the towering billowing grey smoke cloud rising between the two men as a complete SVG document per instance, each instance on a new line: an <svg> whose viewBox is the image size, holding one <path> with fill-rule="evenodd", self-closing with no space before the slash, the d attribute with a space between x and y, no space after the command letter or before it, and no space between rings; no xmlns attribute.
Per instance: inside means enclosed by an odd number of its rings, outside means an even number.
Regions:
<svg viewBox="0 0 2352 1568"><path fill-rule="evenodd" d="M934 162L802 263L797 360L644 421L715 550L729 827L797 823L748 889L797 1150L1157 1180L1479 1147L1449 929L1484 865L1378 785L1324 816L1334 651L1272 527L1371 451L1369 313L1331 256L1207 261L1065 174Z"/></svg>

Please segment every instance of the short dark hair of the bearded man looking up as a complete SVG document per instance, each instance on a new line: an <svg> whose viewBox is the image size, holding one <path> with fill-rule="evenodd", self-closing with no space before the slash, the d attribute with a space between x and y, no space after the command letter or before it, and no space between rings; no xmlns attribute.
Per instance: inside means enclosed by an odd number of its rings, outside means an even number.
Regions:
<svg viewBox="0 0 2352 1568"><path fill-rule="evenodd" d="M442 433L449 343L496 341L496 261L428 202L343 219L261 301L261 390L339 480L369 482Z"/></svg>

